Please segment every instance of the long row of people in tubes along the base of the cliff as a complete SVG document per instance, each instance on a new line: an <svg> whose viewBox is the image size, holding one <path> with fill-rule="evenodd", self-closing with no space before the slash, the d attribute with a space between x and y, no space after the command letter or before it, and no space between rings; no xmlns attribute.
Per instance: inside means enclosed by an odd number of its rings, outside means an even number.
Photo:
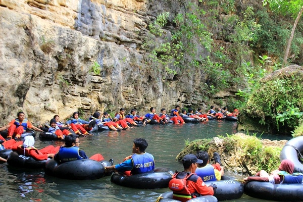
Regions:
<svg viewBox="0 0 303 202"><path fill-rule="evenodd" d="M193 112L193 109L188 109L188 112L185 109L180 111L180 106L176 105L174 109L170 112L170 115L167 114L165 108L161 109L160 114L156 113L156 109L154 107L150 108L150 112L145 114L144 116L137 115L137 111L135 109L130 110L130 112L125 115L125 109L121 108L119 112L115 114L115 117L112 118L109 113L104 112L100 114L99 112L95 112L92 116L89 117L89 121L85 121L79 118L79 113L74 112L72 117L63 124L60 121L59 115L55 115L53 119L49 122L49 124L45 124L47 126L47 132L55 133L59 139L64 139L64 136L68 136L72 130L75 134L79 136L91 135L91 131L94 128L95 124L97 126L104 125L108 126L111 130L119 131L122 129L128 129L135 127L138 122L141 122L142 125L145 125L150 120L157 121L161 124L167 124L170 120L174 122L174 124L184 124L184 117L190 117L197 119L199 121L208 121L208 116L220 118L223 116L237 116L238 110L234 110L233 113L227 111L227 107L224 107L222 110L218 108L218 112L215 111L214 106L211 106L210 110L207 113L203 113L201 108L198 108L197 111ZM183 118L182 118L183 117ZM131 125L131 126L129 126ZM28 129L32 129L35 131L44 131L43 126L35 127L25 118L25 114L23 112L17 113L17 118L12 120L8 125L0 128L0 131L8 129L7 139L14 138L18 140L22 133L26 132Z"/></svg>

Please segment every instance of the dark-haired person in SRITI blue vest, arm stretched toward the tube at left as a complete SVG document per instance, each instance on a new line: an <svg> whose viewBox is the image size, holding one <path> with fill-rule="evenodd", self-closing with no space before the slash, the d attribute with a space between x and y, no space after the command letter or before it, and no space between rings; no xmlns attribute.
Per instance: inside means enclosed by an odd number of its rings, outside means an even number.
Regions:
<svg viewBox="0 0 303 202"><path fill-rule="evenodd" d="M133 141L132 153L133 155L125 158L124 162L105 167L106 172L118 171L125 172L130 171L132 175L154 172L155 161L153 155L145 152L148 143L143 138L135 138Z"/></svg>

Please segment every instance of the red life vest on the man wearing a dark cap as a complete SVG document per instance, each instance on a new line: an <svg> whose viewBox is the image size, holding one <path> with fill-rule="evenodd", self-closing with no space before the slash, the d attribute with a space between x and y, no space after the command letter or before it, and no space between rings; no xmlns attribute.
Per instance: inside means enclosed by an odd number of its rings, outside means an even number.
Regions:
<svg viewBox="0 0 303 202"><path fill-rule="evenodd" d="M192 198L192 195L187 187L187 179L194 175L194 173L187 173L187 175L182 179L176 178L178 174L179 172L176 172L173 175L168 187L173 191L173 199L185 202Z"/></svg>

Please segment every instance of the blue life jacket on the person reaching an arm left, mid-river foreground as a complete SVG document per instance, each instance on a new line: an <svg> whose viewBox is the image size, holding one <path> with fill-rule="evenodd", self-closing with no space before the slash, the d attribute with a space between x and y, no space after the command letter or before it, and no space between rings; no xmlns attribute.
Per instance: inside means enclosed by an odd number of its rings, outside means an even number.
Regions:
<svg viewBox="0 0 303 202"><path fill-rule="evenodd" d="M142 155L133 154L131 156L133 162L133 169L131 174L153 172L155 169L154 157L151 154L144 153Z"/></svg>

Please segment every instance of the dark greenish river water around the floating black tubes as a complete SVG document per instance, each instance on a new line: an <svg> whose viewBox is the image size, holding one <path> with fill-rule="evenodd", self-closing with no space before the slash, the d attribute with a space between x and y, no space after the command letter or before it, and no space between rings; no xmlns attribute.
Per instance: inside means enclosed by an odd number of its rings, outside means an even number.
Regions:
<svg viewBox="0 0 303 202"><path fill-rule="evenodd" d="M146 151L154 155L156 167L183 170L175 158L185 146L185 141L234 134L236 122L211 120L206 123L184 125L147 125L134 129L97 132L80 137L80 148L88 157L99 153L114 164L131 155L133 139L145 138ZM290 136L262 134L262 138L290 139ZM62 145L62 141L42 141L36 136L35 146ZM227 173L228 174L228 173ZM229 173L230 175L234 175ZM97 180L64 180L44 175L44 170L25 170L0 164L0 201L155 201L164 189L132 189L111 183L110 177ZM236 176L241 179L243 176ZM265 201L243 195L232 201Z"/></svg>

